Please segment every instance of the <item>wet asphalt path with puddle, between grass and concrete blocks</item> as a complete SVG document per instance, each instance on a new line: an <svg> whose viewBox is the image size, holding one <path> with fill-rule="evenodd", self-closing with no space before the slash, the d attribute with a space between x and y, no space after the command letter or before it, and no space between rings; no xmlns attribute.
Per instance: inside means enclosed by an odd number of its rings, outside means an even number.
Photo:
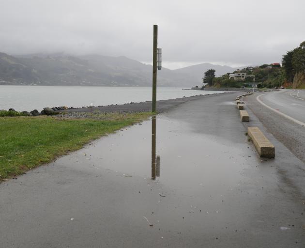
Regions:
<svg viewBox="0 0 305 248"><path fill-rule="evenodd" d="M146 121L0 184L1 246L304 247L305 165L254 115L242 124L235 95L158 115L157 169ZM275 159L247 142L251 124Z"/></svg>

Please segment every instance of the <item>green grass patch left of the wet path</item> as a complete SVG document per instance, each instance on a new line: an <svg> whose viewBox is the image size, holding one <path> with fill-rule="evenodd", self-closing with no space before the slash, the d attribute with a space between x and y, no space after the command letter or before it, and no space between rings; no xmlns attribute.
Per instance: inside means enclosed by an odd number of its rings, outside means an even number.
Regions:
<svg viewBox="0 0 305 248"><path fill-rule="evenodd" d="M151 114L100 114L100 119L0 117L0 180L50 162Z"/></svg>

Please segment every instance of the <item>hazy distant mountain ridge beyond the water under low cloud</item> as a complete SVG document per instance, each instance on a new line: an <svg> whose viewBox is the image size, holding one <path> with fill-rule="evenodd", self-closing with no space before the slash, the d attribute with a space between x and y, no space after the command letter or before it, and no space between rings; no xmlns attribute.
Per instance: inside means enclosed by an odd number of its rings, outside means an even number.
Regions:
<svg viewBox="0 0 305 248"><path fill-rule="evenodd" d="M196 64L176 70L158 71L159 86L201 86L207 69L223 75L236 68ZM64 53L11 56L0 53L0 85L150 86L152 65L103 55L72 56Z"/></svg>

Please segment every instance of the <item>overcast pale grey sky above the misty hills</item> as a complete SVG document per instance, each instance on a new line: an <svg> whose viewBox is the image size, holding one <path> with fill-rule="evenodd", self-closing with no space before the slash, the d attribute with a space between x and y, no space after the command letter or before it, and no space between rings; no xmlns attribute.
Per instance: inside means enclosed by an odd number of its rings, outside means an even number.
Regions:
<svg viewBox="0 0 305 248"><path fill-rule="evenodd" d="M305 40L305 0L0 0L0 52L124 55L170 69L280 62Z"/></svg>

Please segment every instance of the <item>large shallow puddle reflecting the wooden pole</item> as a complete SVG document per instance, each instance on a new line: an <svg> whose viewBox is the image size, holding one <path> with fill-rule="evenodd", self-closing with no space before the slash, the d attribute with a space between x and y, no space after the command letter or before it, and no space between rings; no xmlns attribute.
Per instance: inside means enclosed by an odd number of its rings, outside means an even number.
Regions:
<svg viewBox="0 0 305 248"><path fill-rule="evenodd" d="M258 158L246 144L232 144L192 131L187 123L164 115L136 124L60 160L77 169L108 169L125 177L141 176L183 193L221 195L248 177ZM216 180L217 178L217 180Z"/></svg>

